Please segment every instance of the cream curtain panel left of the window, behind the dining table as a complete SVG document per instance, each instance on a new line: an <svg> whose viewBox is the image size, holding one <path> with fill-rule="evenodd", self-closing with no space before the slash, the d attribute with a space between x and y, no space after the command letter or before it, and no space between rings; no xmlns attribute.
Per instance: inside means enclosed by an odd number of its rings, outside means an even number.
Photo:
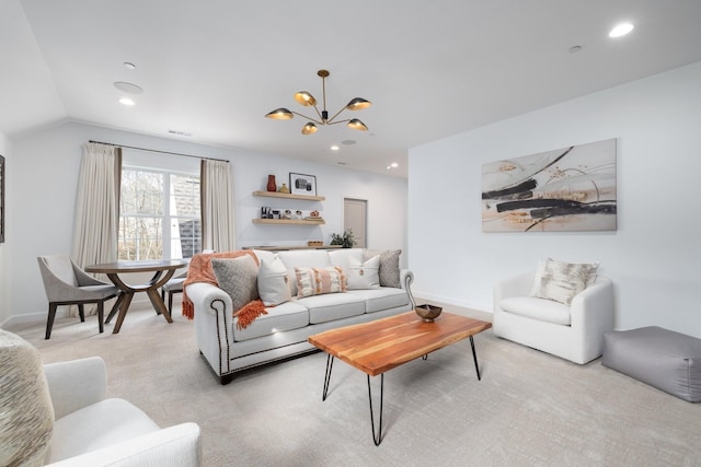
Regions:
<svg viewBox="0 0 701 467"><path fill-rule="evenodd" d="M122 149L85 143L78 179L73 259L81 268L117 260Z"/></svg>

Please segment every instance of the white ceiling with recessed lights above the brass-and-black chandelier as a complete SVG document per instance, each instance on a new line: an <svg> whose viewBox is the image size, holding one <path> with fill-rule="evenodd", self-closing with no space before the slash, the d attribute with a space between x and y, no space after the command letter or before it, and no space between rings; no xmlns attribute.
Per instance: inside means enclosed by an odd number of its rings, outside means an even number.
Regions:
<svg viewBox="0 0 701 467"><path fill-rule="evenodd" d="M0 131L83 121L406 176L409 148L700 61L700 20L699 0L0 0ZM369 131L264 118L313 116L294 93L321 101L322 68L330 114L365 97L342 116Z"/></svg>

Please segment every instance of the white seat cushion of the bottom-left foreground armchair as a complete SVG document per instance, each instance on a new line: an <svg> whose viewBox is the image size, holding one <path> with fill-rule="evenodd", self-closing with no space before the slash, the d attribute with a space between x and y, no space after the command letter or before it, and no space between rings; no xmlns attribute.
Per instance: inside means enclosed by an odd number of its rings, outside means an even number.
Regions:
<svg viewBox="0 0 701 467"><path fill-rule="evenodd" d="M158 430L136 406L124 399L104 399L56 421L46 460L56 463Z"/></svg>

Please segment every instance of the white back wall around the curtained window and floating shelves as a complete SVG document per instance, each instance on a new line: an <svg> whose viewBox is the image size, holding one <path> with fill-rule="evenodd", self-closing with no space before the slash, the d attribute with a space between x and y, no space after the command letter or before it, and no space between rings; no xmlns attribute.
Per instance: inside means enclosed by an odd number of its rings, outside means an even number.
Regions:
<svg viewBox="0 0 701 467"><path fill-rule="evenodd" d="M193 144L68 122L12 141L14 183L9 198L12 200L10 225L14 242L11 252L0 246L3 249L0 253L3 269L12 271L2 282L3 285L8 283L11 293L7 303L3 303L0 325L3 317L4 320L11 317L13 322L46 319L47 303L36 257L70 253L82 144L89 140L231 161L239 247L301 245L307 240L323 240L327 243L331 233L343 230L343 198L353 197L368 200L368 246L406 250L405 179L245 150ZM317 176L318 192L325 196L326 201L299 205L300 208L297 209L319 209L326 220L325 225L280 226L251 223L258 215L261 206L276 206L272 202L276 200L253 197L252 192L265 189L268 174L275 174L281 184L289 172ZM4 296L3 293L3 301Z"/></svg>

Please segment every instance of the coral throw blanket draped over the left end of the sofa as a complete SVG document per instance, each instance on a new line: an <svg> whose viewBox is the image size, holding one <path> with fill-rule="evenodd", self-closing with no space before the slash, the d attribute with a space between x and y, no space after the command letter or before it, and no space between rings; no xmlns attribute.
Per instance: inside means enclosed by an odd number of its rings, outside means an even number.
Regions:
<svg viewBox="0 0 701 467"><path fill-rule="evenodd" d="M238 258L243 255L251 255L255 259L255 264L258 265L258 258L251 250L237 250L237 252L223 252L223 253L202 253L193 256L189 261L189 268L187 269L187 279L183 283L183 316L188 319L195 317L195 306L193 302L187 297L186 287L187 284L195 282L206 282L212 285L219 287L217 283L217 277L211 269L211 258ZM249 302L241 310L237 310L233 313L234 317L239 318L237 327L243 329L249 326L253 320L262 314L266 314L265 305L261 300L254 300Z"/></svg>

